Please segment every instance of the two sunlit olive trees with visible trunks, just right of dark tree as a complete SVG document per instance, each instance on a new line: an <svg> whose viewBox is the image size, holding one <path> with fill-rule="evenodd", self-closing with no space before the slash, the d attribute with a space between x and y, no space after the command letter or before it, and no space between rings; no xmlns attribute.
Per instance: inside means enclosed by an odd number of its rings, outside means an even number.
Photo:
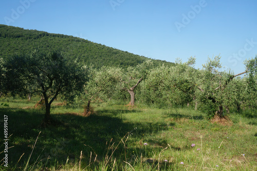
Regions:
<svg viewBox="0 0 257 171"><path fill-rule="evenodd" d="M146 60L135 68L126 70L119 67L103 66L99 70L89 68L89 80L84 85L84 92L80 95L86 102L84 114L90 111L90 103L93 100L122 98L125 92L130 95L130 105L135 105L135 89L144 80L152 62Z"/></svg>

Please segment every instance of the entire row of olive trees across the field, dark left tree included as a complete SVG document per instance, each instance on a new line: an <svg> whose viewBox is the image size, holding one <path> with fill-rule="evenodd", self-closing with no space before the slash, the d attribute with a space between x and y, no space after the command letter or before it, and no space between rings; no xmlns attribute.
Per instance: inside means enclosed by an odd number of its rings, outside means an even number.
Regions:
<svg viewBox="0 0 257 171"><path fill-rule="evenodd" d="M46 106L45 123L50 120L51 103L59 94L71 101L80 96L86 106L85 114L91 101L122 98L118 95L125 95L124 92L130 97L130 105L135 104L135 98L159 106L194 104L195 109L199 106L210 117L214 114L223 117L224 108L229 112L231 107L240 110L256 106L257 57L246 60L246 71L236 75L218 70L222 67L220 58L208 58L201 70L193 68L195 58L192 57L184 63L177 59L173 67L153 68L148 60L127 69L96 70L76 61L69 62L58 52L35 50L0 60L0 93L41 94ZM244 79L236 78L245 73L248 75Z"/></svg>

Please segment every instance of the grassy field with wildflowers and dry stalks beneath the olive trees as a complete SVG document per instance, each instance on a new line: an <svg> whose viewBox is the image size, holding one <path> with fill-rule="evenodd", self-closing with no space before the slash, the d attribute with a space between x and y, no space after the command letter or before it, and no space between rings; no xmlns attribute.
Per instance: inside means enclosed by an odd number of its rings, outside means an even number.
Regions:
<svg viewBox="0 0 257 171"><path fill-rule="evenodd" d="M4 135L0 170L257 170L257 114L231 112L213 123L190 108L156 109L114 101L93 104L94 114L55 101L40 127L38 98L1 99L1 132L8 116L8 167ZM36 143L35 143L36 142ZM30 156L31 155L31 156Z"/></svg>

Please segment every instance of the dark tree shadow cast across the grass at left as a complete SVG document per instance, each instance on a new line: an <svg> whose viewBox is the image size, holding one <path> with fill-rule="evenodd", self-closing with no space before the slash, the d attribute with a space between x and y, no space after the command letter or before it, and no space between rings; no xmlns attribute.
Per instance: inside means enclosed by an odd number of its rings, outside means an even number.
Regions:
<svg viewBox="0 0 257 171"><path fill-rule="evenodd" d="M127 134L135 132L145 133L162 131L167 125L158 123L138 124L123 122L119 114L140 112L137 110L102 110L97 115L83 117L77 114L52 114L53 119L61 121L59 126L40 127L44 119L44 110L36 109L11 109L0 108L1 116L8 116L8 160L9 167L15 170L22 170L32 151L36 137L38 140L33 149L29 164L43 165L49 167L59 163L65 164L80 159L82 151L83 162L89 163L96 155L98 161L103 161L109 144L118 145L121 139ZM107 113L107 115L105 115ZM3 114L3 115L2 115ZM111 115L108 115L111 114ZM1 124L1 130L3 130ZM137 136L134 134L133 136ZM124 139L125 140L125 139ZM111 142L110 142L111 141ZM0 140L3 144L3 139ZM161 142L166 143L166 142ZM1 146L0 153L3 151ZM124 146L121 144L116 149L114 157L122 158ZM111 150L112 151L112 150ZM24 155L23 155L24 153ZM0 154L3 158L4 153ZM22 156L22 157L21 157ZM21 157L21 160L20 160ZM19 161L20 160L20 161ZM19 161L19 164L17 162Z"/></svg>

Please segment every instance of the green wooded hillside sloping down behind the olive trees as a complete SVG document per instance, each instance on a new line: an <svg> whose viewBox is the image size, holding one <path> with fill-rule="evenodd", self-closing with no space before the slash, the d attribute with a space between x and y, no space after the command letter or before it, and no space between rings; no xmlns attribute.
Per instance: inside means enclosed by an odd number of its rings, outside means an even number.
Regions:
<svg viewBox="0 0 257 171"><path fill-rule="evenodd" d="M0 25L0 57L8 58L14 54L28 53L33 49L44 51L60 50L69 59L76 59L95 68L106 66L136 66L149 59L115 48L106 47L89 40L44 31L25 30L19 27ZM154 66L174 65L172 62L153 60Z"/></svg>

